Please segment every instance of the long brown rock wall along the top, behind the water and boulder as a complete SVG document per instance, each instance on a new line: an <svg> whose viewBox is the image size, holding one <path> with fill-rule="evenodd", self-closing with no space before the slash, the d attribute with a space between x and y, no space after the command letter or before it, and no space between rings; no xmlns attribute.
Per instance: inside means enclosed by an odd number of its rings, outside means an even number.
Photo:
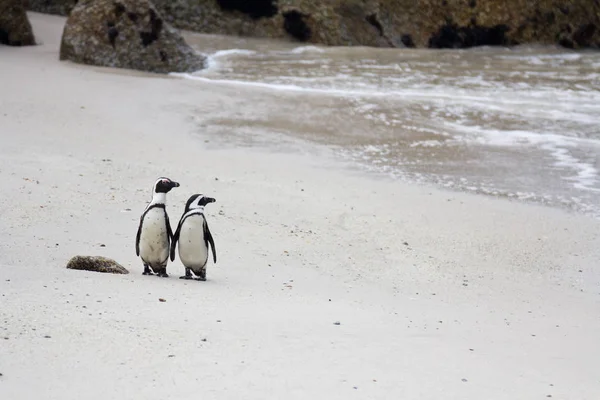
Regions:
<svg viewBox="0 0 600 400"><path fill-rule="evenodd" d="M30 0L49 12L75 0ZM600 47L598 0L154 0L175 27L336 46ZM40 4L38 4L40 3ZM60 5L60 7L58 7Z"/></svg>

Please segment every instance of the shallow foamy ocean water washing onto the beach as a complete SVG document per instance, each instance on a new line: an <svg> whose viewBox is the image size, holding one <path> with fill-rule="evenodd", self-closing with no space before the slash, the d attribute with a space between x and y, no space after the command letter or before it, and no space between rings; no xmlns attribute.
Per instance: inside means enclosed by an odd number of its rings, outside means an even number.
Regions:
<svg viewBox="0 0 600 400"><path fill-rule="evenodd" d="M328 146L395 179L600 218L598 52L187 39L209 68L178 76L260 94L211 124Z"/></svg>

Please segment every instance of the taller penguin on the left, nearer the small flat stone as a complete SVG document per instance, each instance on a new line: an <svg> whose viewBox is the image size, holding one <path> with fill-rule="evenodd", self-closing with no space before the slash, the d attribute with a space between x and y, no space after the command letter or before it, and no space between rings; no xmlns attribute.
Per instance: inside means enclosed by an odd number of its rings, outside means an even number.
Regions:
<svg viewBox="0 0 600 400"><path fill-rule="evenodd" d="M135 238L135 254L144 263L143 275L154 275L166 278L169 248L173 238L166 203L167 193L179 183L169 178L158 178L152 190L152 200L140 217Z"/></svg>

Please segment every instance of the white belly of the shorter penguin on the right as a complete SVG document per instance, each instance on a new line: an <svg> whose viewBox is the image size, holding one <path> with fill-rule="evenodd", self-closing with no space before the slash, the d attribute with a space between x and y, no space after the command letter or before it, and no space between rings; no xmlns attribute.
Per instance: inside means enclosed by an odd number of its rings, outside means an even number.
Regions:
<svg viewBox="0 0 600 400"><path fill-rule="evenodd" d="M184 221L179 232L179 259L192 270L199 270L208 260L208 246L204 241L204 218L192 215Z"/></svg>

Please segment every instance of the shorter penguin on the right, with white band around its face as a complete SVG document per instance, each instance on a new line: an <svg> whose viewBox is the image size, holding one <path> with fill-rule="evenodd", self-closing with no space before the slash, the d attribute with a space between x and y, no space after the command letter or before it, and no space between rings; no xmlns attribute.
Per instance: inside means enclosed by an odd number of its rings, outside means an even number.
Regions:
<svg viewBox="0 0 600 400"><path fill-rule="evenodd" d="M194 275L198 277L196 280L206 280L209 244L212 248L213 262L217 263L215 242L204 216L204 206L215 201L212 197L194 194L185 204L185 210L171 243L171 261L175 260L175 247L179 241L179 259L185 267L185 275L179 279L194 279L193 271Z"/></svg>

